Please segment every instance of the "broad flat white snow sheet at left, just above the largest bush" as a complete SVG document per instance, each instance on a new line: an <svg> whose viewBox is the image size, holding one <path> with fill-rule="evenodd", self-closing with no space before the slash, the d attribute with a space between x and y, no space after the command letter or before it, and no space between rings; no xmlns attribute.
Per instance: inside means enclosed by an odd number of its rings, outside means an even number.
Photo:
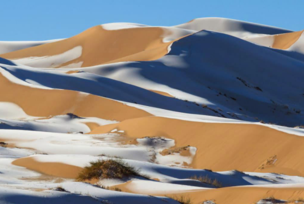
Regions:
<svg viewBox="0 0 304 204"><path fill-rule="evenodd" d="M150 161L151 157L146 147L117 142L120 136L116 134L83 135L23 130L0 130L0 134L7 143L45 154L108 155L139 161Z"/></svg>

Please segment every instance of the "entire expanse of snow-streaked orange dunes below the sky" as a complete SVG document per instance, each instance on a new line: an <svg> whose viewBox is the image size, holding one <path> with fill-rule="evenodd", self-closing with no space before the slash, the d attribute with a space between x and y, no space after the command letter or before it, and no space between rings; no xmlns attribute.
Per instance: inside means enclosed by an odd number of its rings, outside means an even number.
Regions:
<svg viewBox="0 0 304 204"><path fill-rule="evenodd" d="M0 203L301 204L303 43L225 18L0 41Z"/></svg>

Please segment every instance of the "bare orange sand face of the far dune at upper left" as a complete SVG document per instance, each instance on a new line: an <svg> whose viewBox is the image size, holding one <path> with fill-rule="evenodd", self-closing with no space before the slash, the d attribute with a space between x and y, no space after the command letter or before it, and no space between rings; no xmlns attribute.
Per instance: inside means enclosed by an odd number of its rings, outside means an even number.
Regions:
<svg viewBox="0 0 304 204"><path fill-rule="evenodd" d="M168 32L170 31L164 31L162 28L150 27L104 30L102 26L97 25L65 40L17 50L0 57L13 60L56 56L81 46L80 57L56 67L79 62L83 62L81 67L88 67L121 61L155 60L168 53L167 47L172 42L163 42L163 37Z"/></svg>

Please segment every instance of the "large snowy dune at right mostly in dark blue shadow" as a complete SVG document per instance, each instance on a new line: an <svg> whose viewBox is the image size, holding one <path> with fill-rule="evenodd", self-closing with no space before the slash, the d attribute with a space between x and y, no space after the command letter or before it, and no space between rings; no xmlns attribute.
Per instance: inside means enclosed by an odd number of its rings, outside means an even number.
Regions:
<svg viewBox="0 0 304 204"><path fill-rule="evenodd" d="M82 70L204 104L218 116L296 126L304 122L304 63L297 56L201 31L174 42L159 60Z"/></svg>

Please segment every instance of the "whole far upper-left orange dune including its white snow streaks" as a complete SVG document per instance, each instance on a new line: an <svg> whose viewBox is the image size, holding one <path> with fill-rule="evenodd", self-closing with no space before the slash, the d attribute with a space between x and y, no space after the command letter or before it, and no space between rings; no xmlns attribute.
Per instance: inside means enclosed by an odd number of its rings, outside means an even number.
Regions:
<svg viewBox="0 0 304 204"><path fill-rule="evenodd" d="M105 63L154 60L168 53L180 37L195 33L173 27L130 23L97 25L71 38L0 55L39 68L87 67Z"/></svg>

